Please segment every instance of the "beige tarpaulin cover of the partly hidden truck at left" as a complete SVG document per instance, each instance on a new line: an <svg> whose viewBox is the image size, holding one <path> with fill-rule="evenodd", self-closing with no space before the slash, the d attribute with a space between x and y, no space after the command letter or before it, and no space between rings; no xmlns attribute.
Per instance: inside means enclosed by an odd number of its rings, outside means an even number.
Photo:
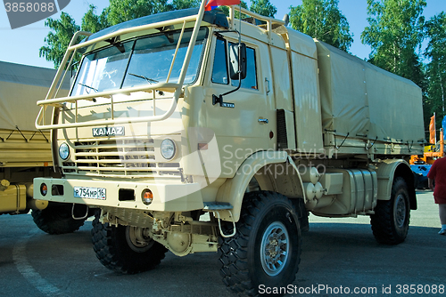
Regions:
<svg viewBox="0 0 446 297"><path fill-rule="evenodd" d="M17 126L21 131L36 130L40 109L36 102L45 99L55 73L54 69L0 61L0 129L15 130Z"/></svg>

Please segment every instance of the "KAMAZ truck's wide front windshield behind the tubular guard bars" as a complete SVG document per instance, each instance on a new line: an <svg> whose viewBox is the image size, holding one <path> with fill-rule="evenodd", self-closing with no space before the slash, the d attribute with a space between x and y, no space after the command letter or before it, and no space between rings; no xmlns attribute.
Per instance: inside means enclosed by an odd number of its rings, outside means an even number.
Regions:
<svg viewBox="0 0 446 297"><path fill-rule="evenodd" d="M207 28L199 32L185 84L193 84L198 76L207 32ZM87 54L82 60L71 96L168 82L180 33L174 31L145 36ZM169 76L170 83L178 83L191 36L192 29L186 30Z"/></svg>

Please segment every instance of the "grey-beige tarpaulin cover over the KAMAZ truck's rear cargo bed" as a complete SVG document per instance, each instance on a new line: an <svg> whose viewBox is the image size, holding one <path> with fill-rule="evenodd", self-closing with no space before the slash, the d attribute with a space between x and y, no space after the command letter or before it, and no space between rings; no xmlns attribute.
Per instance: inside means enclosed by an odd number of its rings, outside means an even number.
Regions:
<svg viewBox="0 0 446 297"><path fill-rule="evenodd" d="M316 44L324 132L404 143L425 138L416 84L331 45Z"/></svg>

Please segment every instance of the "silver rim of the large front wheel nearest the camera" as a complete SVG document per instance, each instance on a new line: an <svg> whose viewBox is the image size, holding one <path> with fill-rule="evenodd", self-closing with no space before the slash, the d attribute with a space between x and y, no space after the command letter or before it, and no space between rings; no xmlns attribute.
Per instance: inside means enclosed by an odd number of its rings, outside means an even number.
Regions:
<svg viewBox="0 0 446 297"><path fill-rule="evenodd" d="M260 245L261 266L270 277L277 276L284 268L290 250L288 231L280 221L275 221L263 233Z"/></svg>

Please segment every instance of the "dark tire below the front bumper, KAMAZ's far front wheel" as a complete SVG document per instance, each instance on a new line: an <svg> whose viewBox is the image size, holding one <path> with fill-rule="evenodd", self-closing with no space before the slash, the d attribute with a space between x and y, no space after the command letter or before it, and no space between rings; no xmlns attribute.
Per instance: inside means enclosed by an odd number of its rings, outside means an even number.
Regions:
<svg viewBox="0 0 446 297"><path fill-rule="evenodd" d="M102 224L96 215L91 234L97 259L106 268L122 274L154 269L168 250L153 240L145 247L133 245L126 234L129 228L131 227Z"/></svg>

